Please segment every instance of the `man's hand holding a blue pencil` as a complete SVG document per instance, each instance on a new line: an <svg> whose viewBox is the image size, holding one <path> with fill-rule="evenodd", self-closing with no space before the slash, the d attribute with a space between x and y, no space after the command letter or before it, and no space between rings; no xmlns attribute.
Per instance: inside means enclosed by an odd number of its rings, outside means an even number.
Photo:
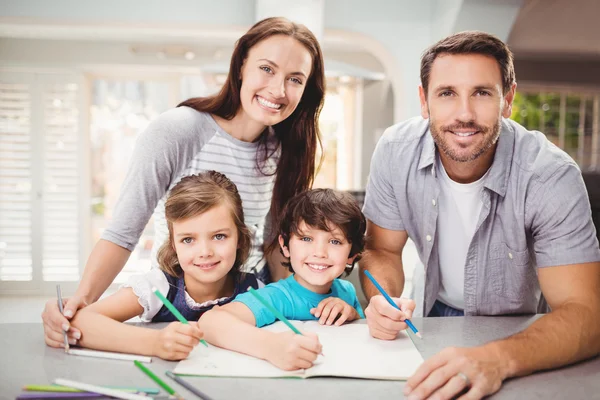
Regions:
<svg viewBox="0 0 600 400"><path fill-rule="evenodd" d="M415 302L410 299L394 297L392 300L402 311L392 307L382 295L373 296L369 301L365 317L369 325L369 332L374 338L394 340L398 336L398 332L408 327L404 320L412 317Z"/></svg>

